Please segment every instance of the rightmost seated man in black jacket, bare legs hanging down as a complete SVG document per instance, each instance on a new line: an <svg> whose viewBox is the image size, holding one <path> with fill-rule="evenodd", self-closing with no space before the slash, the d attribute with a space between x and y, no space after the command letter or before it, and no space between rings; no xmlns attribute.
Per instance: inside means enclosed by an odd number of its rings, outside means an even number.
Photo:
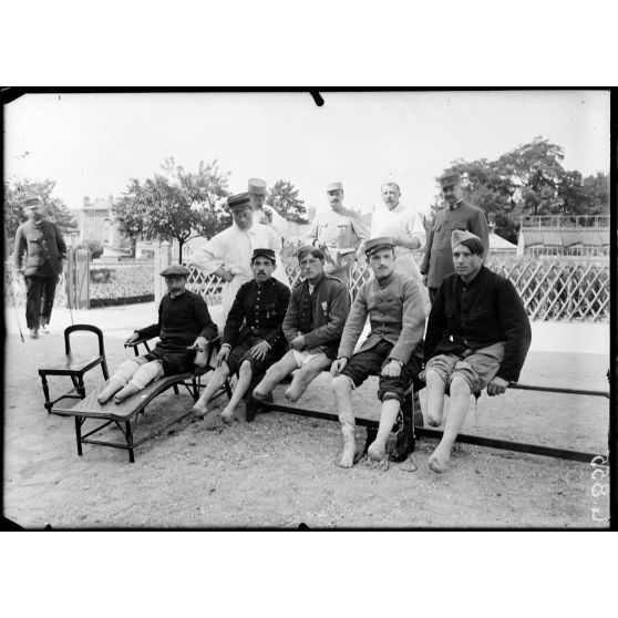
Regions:
<svg viewBox="0 0 618 618"><path fill-rule="evenodd" d="M531 346L526 310L511 281L485 266L485 246L466 230L451 235L455 272L449 275L432 305L425 337L428 423L442 423L444 393L451 405L440 444L429 459L445 472L471 393L487 387L502 394L516 382Z"/></svg>

